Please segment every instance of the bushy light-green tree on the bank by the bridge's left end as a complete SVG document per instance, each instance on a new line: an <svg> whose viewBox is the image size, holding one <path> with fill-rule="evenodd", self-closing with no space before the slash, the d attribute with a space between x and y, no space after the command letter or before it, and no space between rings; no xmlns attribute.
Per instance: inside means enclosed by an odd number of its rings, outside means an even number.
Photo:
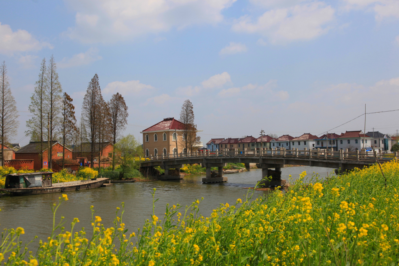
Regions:
<svg viewBox="0 0 399 266"><path fill-rule="evenodd" d="M136 138L130 134L122 137L115 143L114 149L117 163L122 169L120 175L120 179L122 179L124 174L128 173L134 167L134 158L143 155L143 149Z"/></svg>

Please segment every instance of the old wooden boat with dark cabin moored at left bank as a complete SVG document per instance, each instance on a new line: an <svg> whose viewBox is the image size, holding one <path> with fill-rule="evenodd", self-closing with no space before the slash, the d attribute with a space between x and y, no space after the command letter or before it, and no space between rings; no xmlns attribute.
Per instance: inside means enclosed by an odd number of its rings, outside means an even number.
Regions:
<svg viewBox="0 0 399 266"><path fill-rule="evenodd" d="M5 189L0 189L0 193L8 192L18 196L56 192L63 193L81 189L95 189L102 187L105 181L109 180L109 178L97 178L92 180L52 183L52 174L52 172L36 172L7 175Z"/></svg>

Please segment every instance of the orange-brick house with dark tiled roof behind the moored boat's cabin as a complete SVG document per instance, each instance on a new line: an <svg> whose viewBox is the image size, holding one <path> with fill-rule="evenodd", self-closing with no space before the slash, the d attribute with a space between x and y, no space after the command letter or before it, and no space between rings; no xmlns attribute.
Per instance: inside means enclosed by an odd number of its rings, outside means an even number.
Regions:
<svg viewBox="0 0 399 266"><path fill-rule="evenodd" d="M52 144L52 155L51 159L62 158L63 146L58 141L53 141ZM28 145L22 147L20 150L15 152L15 159L17 160L33 160L34 170L40 170L41 168L48 168L47 162L47 142L43 142L43 165L40 163L40 141L31 141ZM65 158L72 159L72 151L65 147Z"/></svg>

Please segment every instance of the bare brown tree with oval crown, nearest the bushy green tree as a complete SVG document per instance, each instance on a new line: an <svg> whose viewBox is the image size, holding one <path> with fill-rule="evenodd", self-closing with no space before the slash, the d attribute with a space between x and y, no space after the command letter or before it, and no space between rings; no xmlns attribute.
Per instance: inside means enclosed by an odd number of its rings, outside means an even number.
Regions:
<svg viewBox="0 0 399 266"><path fill-rule="evenodd" d="M129 115L127 112L128 107L119 93L112 95L111 100L108 101L108 107L111 113L113 145L115 145L122 131L126 129L127 117ZM115 170L115 151L112 154L112 170Z"/></svg>

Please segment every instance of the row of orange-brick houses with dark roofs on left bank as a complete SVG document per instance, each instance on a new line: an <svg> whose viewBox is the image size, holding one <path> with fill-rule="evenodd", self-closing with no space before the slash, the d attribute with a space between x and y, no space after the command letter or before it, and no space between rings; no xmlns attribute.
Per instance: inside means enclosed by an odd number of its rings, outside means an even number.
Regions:
<svg viewBox="0 0 399 266"><path fill-rule="evenodd" d="M4 145L4 165L12 166L15 169L29 169L39 170L48 168L48 147L47 142L43 142L43 151L40 152L40 141L31 141L28 145L20 147L18 143L13 143L10 146ZM101 149L101 161L107 161L108 157L112 157L113 145L111 142L95 143L94 156L98 159L99 149ZM62 155L63 145L57 141L52 143L52 169L60 171L62 169ZM43 157L43 163L41 160ZM65 147L64 167L70 171L77 171L80 164L84 165L91 161L91 143L81 143L75 149ZM109 163L101 163L101 166L108 167ZM98 163L95 163L98 167Z"/></svg>

